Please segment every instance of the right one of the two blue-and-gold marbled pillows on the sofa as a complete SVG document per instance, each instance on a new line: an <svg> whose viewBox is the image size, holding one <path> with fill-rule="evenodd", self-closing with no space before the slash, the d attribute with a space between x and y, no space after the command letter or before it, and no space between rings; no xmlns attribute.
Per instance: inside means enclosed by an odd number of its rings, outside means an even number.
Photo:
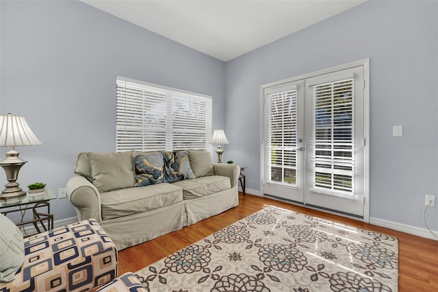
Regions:
<svg viewBox="0 0 438 292"><path fill-rule="evenodd" d="M166 182L178 182L179 180L194 178L193 171L190 168L188 151L163 151L162 154Z"/></svg>

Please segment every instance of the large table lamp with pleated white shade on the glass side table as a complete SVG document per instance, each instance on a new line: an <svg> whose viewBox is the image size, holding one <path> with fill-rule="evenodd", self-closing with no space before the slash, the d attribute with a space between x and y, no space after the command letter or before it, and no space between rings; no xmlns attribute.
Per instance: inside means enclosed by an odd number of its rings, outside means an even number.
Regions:
<svg viewBox="0 0 438 292"><path fill-rule="evenodd" d="M11 147L10 151L6 152L6 158L0 161L0 166L5 169L8 180L8 184L5 184L6 188L0 194L0 199L12 199L26 195L16 180L18 171L27 161L18 157L19 153L15 151L15 147L31 145L42 145L42 143L32 133L24 117L12 114L0 116L0 146Z"/></svg>

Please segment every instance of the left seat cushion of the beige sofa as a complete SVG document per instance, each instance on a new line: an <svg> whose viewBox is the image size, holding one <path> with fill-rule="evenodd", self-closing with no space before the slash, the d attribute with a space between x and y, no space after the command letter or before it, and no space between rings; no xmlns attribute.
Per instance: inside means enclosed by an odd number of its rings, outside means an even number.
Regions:
<svg viewBox="0 0 438 292"><path fill-rule="evenodd" d="M133 215L172 205L182 200L183 190L179 186L166 182L110 191L101 195L102 219Z"/></svg>

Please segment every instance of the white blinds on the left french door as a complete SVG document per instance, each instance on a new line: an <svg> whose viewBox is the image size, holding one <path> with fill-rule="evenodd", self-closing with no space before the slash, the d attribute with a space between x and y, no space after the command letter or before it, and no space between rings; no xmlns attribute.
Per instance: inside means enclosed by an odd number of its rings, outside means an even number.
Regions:
<svg viewBox="0 0 438 292"><path fill-rule="evenodd" d="M291 88L267 95L266 166L268 182L296 186L297 93Z"/></svg>

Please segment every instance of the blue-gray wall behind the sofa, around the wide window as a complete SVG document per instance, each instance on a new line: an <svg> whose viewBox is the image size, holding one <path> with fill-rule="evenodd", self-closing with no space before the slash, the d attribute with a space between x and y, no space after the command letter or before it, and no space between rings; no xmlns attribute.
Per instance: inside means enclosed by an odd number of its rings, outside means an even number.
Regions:
<svg viewBox="0 0 438 292"><path fill-rule="evenodd" d="M57 193L79 152L115 151L117 75L211 95L213 125L224 127L224 62L79 1L0 5L0 114L24 116L43 143L16 148L29 161L23 189L44 181ZM51 210L55 220L76 215L68 199Z"/></svg>

